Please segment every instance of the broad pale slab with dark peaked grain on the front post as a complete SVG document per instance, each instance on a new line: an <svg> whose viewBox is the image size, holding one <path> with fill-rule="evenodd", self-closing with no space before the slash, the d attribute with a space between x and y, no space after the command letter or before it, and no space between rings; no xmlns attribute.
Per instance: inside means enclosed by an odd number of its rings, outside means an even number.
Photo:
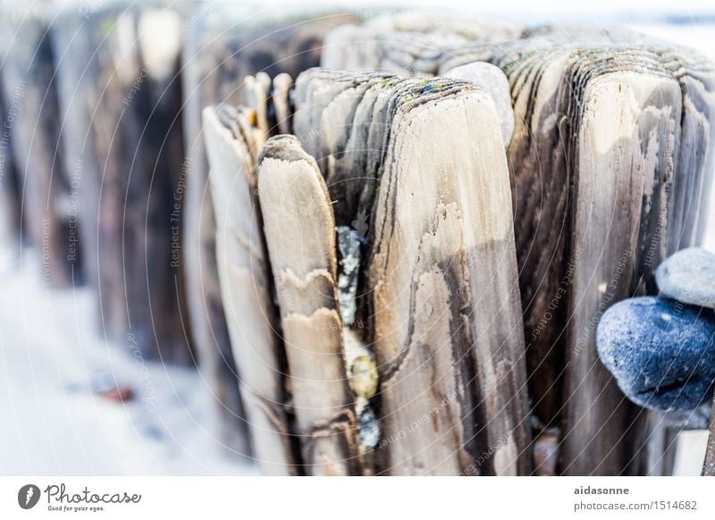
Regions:
<svg viewBox="0 0 715 520"><path fill-rule="evenodd" d="M396 104L374 206L367 276L384 436L421 416L434 429L390 444L385 471L524 474L525 352L501 132L484 91L440 90L432 103L427 94Z"/></svg>

